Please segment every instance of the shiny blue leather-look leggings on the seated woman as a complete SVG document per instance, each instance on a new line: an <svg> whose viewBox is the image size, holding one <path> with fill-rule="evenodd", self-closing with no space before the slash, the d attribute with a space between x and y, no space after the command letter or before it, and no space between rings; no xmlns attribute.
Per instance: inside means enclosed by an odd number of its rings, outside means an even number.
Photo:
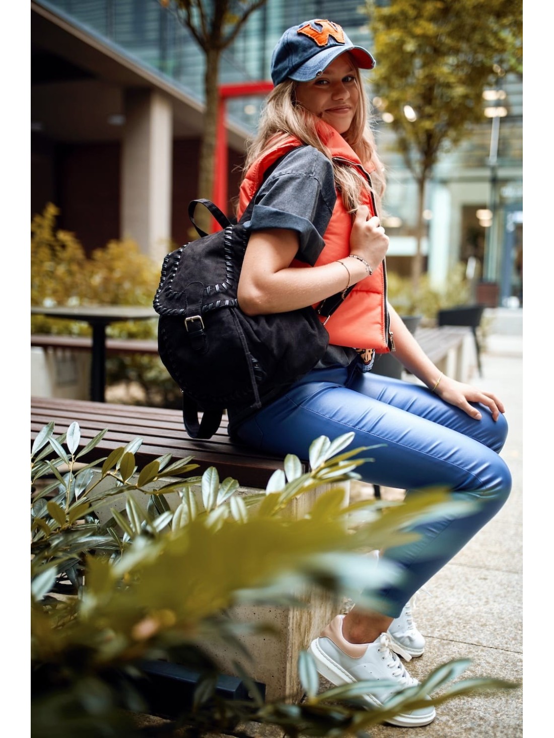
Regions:
<svg viewBox="0 0 554 738"><path fill-rule="evenodd" d="M400 615L420 587L490 520L510 493L511 477L499 452L505 443L504 415L495 422L488 408L470 418L426 387L358 367L312 370L284 396L244 421L238 437L278 455L308 458L315 438L331 440L355 432L350 448L374 446L375 461L359 466L363 481L406 489L406 495L441 486L456 499L479 501L465 517L444 517L411 528L415 542L390 548L383 559L400 565L403 576L377 593L383 614ZM458 497L460 496L460 497Z"/></svg>

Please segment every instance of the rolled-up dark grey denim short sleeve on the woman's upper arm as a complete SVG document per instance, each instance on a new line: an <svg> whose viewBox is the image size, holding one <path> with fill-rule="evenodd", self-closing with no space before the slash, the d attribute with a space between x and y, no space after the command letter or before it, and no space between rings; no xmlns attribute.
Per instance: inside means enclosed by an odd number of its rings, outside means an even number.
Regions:
<svg viewBox="0 0 554 738"><path fill-rule="evenodd" d="M332 165L317 149L303 146L283 159L256 196L251 231L287 228L298 232L296 258L313 265L324 248L336 191Z"/></svg>

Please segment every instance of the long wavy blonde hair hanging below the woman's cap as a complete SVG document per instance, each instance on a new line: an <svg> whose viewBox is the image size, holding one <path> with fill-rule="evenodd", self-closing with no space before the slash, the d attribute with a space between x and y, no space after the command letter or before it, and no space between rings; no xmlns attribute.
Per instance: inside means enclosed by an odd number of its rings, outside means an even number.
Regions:
<svg viewBox="0 0 554 738"><path fill-rule="evenodd" d="M355 65L354 65L355 66ZM306 108L296 103L296 84L293 80L285 80L276 85L268 94L261 110L258 134L247 148L244 174L250 165L262 154L281 140L295 136L304 143L317 148L332 163L335 175L335 184L341 193L347 210L354 212L360 204L360 194L363 190L373 191L377 210L380 210L381 200L385 191L385 176L383 165L375 150L375 137L367 117L367 98L360 79L360 71L355 66L355 77L360 91L360 104L348 131L343 138L358 155L364 168L373 169L372 187L366 178L358 173L355 167L341 165L333 161L331 151L318 137L317 125L321 120Z"/></svg>

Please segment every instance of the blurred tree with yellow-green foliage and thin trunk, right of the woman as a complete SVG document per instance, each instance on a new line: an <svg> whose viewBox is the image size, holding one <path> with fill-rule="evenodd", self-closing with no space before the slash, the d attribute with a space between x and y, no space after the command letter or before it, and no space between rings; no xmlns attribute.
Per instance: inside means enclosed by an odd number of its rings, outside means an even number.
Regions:
<svg viewBox="0 0 554 738"><path fill-rule="evenodd" d="M523 8L521 0L367 0L366 10L377 60L372 88L420 190L420 255L425 183L438 156L485 120L485 87L521 73Z"/></svg>

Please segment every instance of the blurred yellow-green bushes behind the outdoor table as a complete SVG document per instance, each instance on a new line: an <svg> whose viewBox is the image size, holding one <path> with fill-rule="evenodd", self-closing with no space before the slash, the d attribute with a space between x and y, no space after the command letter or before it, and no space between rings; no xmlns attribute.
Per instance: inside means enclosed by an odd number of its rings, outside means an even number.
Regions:
<svg viewBox="0 0 554 738"><path fill-rule="evenodd" d="M59 209L48 203L31 221L31 305L151 305L160 264L140 252L135 241L109 241L88 257L74 233L56 228ZM31 317L31 333L90 335L79 321ZM157 338L157 320L109 325L113 338ZM126 354L106 360L106 384L134 383L143 404L179 407L181 393L157 356ZM124 393L125 401L129 393ZM139 400L135 400L139 401Z"/></svg>

